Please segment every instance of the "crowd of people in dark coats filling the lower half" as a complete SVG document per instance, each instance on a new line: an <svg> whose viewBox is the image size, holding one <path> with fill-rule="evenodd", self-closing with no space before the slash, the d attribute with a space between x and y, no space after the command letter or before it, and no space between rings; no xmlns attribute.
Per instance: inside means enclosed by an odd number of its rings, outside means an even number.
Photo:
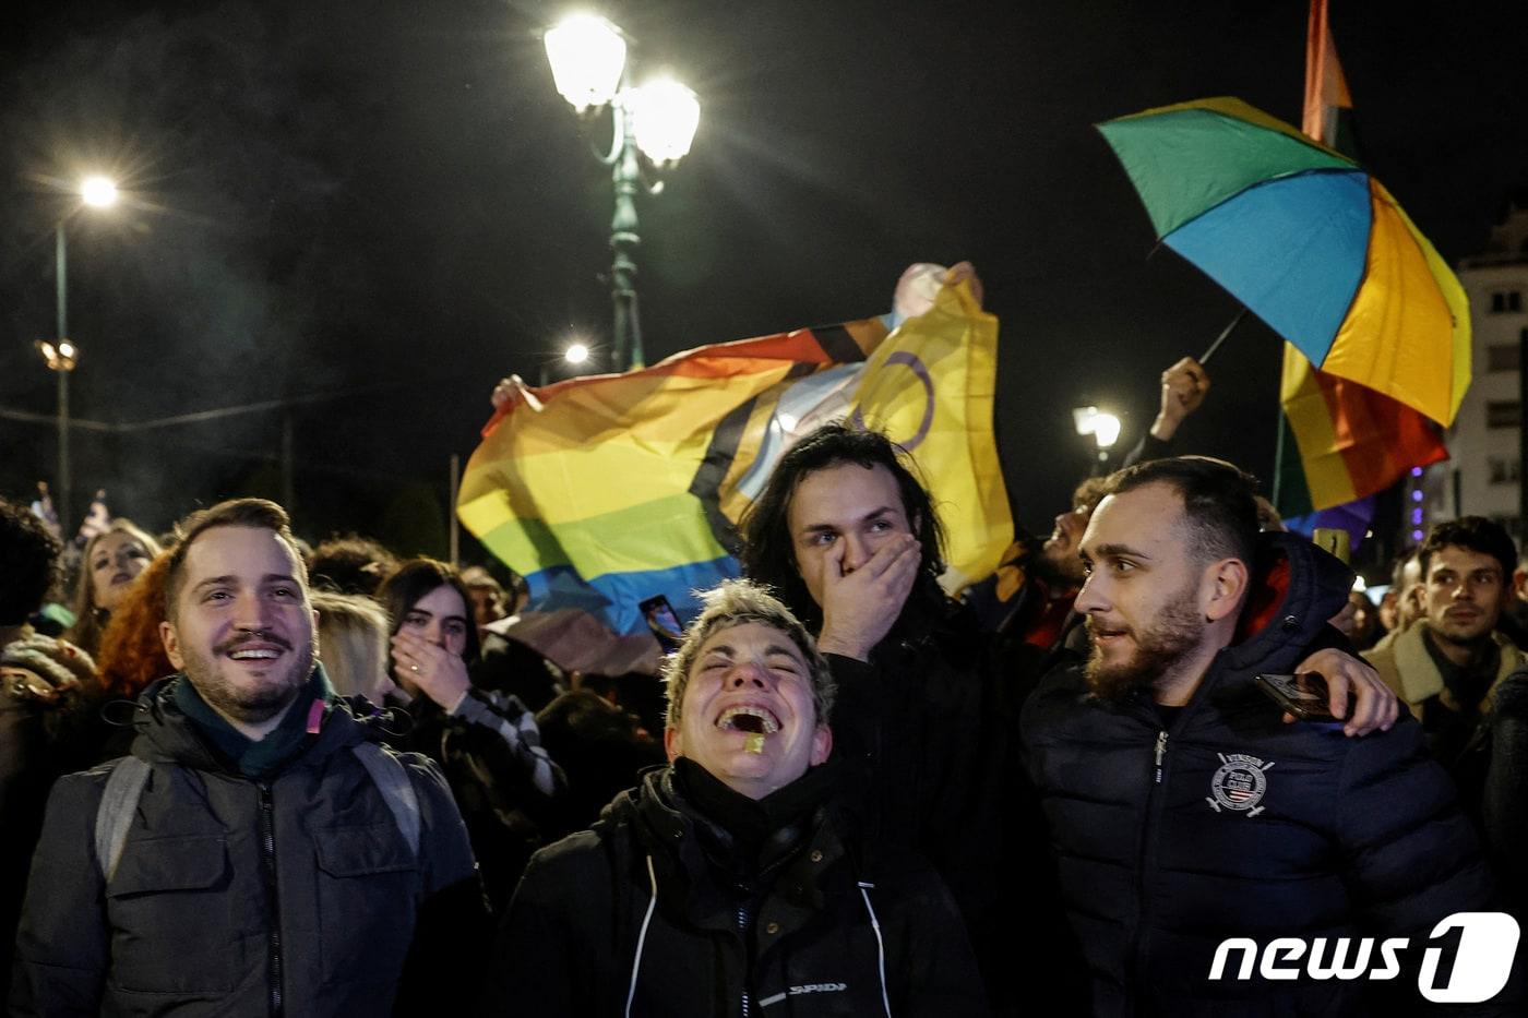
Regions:
<svg viewBox="0 0 1528 1018"><path fill-rule="evenodd" d="M113 523L47 636L58 541L0 501L12 1012L1421 1012L1439 923L1528 914L1528 562L1438 524L1366 636L1253 478L1170 456L1207 385L1169 368L1131 462L960 599L938 492L817 428L662 686L252 498ZM1365 937L1401 978L1212 975ZM1520 1013L1500 975L1470 1013Z"/></svg>

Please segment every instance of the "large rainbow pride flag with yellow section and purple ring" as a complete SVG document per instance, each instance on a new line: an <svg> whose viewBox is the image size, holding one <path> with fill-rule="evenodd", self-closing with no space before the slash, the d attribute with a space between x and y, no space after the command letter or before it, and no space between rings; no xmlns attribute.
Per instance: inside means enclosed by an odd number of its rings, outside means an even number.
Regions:
<svg viewBox="0 0 1528 1018"><path fill-rule="evenodd" d="M996 567L1012 517L992 433L996 318L969 284L889 332L886 318L677 353L625 374L524 390L483 430L461 523L530 582L538 607L582 607L645 631L656 595L738 573L736 521L790 445L856 416L906 449L950 535L947 582Z"/></svg>

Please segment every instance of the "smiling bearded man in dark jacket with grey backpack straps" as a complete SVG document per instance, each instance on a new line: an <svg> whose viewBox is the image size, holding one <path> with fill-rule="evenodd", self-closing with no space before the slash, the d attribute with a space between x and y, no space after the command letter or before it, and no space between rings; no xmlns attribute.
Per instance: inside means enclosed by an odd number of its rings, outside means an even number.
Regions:
<svg viewBox="0 0 1528 1018"><path fill-rule="evenodd" d="M472 851L434 766L316 665L286 512L194 514L165 582L180 674L139 699L133 757L55 786L11 1013L420 1010L483 934Z"/></svg>

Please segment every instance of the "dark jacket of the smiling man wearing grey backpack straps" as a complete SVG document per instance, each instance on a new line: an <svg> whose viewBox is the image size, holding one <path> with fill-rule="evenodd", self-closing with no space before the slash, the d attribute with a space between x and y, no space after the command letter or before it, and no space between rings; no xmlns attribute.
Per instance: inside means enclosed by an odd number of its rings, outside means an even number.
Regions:
<svg viewBox="0 0 1528 1018"><path fill-rule="evenodd" d="M93 833L112 764L53 787L12 1013L411 1009L416 969L460 963L483 926L466 830L434 764L400 757L422 815L416 858L353 752L376 734L344 702L318 700L318 731L255 781L182 712L177 682L138 702L133 755L151 773L110 879Z"/></svg>

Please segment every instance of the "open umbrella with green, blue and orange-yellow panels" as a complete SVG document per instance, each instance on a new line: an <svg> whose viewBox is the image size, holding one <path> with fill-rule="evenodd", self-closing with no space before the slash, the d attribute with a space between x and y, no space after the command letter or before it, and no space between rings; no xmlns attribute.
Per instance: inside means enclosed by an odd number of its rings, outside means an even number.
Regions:
<svg viewBox="0 0 1528 1018"><path fill-rule="evenodd" d="M1383 183L1241 99L1099 130L1161 243L1320 370L1453 423L1470 385L1468 303Z"/></svg>

